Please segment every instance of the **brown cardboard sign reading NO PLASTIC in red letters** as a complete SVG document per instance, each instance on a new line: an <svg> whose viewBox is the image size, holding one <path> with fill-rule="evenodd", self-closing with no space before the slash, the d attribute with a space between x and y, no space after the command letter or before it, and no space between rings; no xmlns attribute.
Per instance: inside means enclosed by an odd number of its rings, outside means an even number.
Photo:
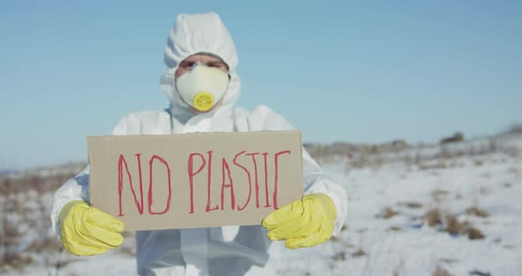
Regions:
<svg viewBox="0 0 522 276"><path fill-rule="evenodd" d="M301 133L88 137L90 201L126 230L259 225L303 196Z"/></svg>

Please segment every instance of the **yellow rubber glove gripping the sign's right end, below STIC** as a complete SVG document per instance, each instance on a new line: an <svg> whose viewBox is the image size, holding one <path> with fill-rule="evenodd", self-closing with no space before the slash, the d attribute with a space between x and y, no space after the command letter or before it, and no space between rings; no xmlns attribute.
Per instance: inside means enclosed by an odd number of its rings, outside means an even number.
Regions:
<svg viewBox="0 0 522 276"><path fill-rule="evenodd" d="M273 211L263 226L272 241L286 240L288 249L311 247L326 242L334 232L337 210L329 196L311 194Z"/></svg>

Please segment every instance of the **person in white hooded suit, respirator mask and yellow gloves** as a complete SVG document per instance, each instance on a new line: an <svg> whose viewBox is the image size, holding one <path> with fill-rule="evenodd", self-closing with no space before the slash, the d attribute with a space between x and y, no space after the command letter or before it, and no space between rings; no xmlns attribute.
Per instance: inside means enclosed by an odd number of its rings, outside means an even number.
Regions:
<svg viewBox="0 0 522 276"><path fill-rule="evenodd" d="M217 14L179 15L165 47L168 69L161 78L170 108L128 114L113 134L292 129L266 106L252 112L234 106L240 95L237 63L234 42ZM121 222L88 206L88 173L86 168L58 189L51 214L65 249L79 256L103 254L123 242ZM138 231L138 273L274 275L283 247L271 240L285 241L289 249L314 246L339 233L346 217L345 191L306 151L303 173L303 200L273 211L263 226Z"/></svg>

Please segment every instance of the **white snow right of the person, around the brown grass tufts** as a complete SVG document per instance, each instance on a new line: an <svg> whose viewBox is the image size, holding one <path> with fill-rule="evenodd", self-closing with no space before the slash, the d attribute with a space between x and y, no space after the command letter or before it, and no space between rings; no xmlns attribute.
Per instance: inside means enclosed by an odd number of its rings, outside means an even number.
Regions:
<svg viewBox="0 0 522 276"><path fill-rule="evenodd" d="M522 160L504 155L481 157L475 165L464 157L463 167L438 170L412 170L401 165L386 165L378 170L362 169L344 173L339 166L326 172L346 185L349 191L348 231L341 241L328 242L312 249L290 252L285 258L288 275L430 275L436 266L451 275L472 271L494 275L522 275ZM504 160L503 162L499 160ZM518 170L517 170L518 168ZM446 191L439 201L435 190ZM401 203L422 203L409 209ZM487 218L468 218L464 211L479 206ZM380 218L385 208L399 214ZM468 219L486 236L469 240L452 236L418 219L431 208ZM390 227L399 230L390 230ZM344 245L344 246L343 246ZM358 249L365 256L354 257ZM336 253L335 253L336 252ZM345 254L334 262L335 254ZM314 256L330 262L331 269L309 267Z"/></svg>

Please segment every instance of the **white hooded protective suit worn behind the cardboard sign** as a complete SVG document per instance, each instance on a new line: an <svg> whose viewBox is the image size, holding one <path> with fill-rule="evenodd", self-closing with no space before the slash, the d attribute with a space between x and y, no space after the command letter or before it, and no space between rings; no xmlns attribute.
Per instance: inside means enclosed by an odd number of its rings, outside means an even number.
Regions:
<svg viewBox="0 0 522 276"><path fill-rule="evenodd" d="M229 66L230 82L219 108L195 114L180 100L175 90L175 72L184 58L211 53ZM191 132L247 132L288 130L293 127L266 106L249 112L234 107L240 96L238 58L234 42L215 13L178 16L167 46L165 64L169 69L161 87L170 99L170 108L128 114L115 126L113 134L184 134ZM58 213L71 200L88 198L89 167L58 189L51 213L59 235ZM338 234L347 212L346 192L326 178L319 165L303 150L305 194L325 193L337 209L334 234ZM263 226L224 226L196 229L139 231L136 233L137 268L141 275L275 275L284 242L271 242Z"/></svg>

